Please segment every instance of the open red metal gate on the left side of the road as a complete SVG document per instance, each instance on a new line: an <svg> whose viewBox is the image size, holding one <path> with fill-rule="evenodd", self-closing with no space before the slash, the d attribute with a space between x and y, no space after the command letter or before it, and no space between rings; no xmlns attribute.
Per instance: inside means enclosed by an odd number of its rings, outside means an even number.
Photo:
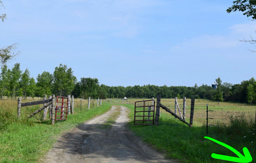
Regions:
<svg viewBox="0 0 256 163"><path fill-rule="evenodd" d="M55 109L55 121L67 120L67 115L68 115L68 98L63 96L57 96L56 109Z"/></svg>

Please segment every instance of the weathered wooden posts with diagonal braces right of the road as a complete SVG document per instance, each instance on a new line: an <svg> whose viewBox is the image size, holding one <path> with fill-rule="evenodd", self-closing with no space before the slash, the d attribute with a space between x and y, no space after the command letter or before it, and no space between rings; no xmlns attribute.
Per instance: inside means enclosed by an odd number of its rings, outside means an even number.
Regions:
<svg viewBox="0 0 256 163"><path fill-rule="evenodd" d="M158 95L157 96L157 100L156 100L156 118L155 118L155 125L158 125L159 122L159 116L160 116L160 107L162 109L164 109L165 111L169 112L170 114L172 114L175 118L178 118L178 120L182 121L183 123L185 123L186 125L188 125L189 127L193 126L193 116L194 116L194 106L195 106L195 98L191 98L191 109L190 109L190 121L189 123L187 123L185 121L185 116L186 116L186 97L183 98L183 115L180 111L180 107L178 105L178 101L177 98L175 98L175 112L172 112L170 109L168 109L165 105L161 104L161 96ZM177 112L177 108L178 111L180 113L180 117L176 114Z"/></svg>

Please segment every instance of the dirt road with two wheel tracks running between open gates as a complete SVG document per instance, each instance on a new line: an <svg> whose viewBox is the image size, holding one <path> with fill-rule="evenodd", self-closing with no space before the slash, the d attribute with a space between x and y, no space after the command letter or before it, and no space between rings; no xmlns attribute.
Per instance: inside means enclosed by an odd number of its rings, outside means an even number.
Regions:
<svg viewBox="0 0 256 163"><path fill-rule="evenodd" d="M120 107L120 114L110 129L101 126L116 106L62 136L48 152L45 163L174 163L126 129L128 110Z"/></svg>

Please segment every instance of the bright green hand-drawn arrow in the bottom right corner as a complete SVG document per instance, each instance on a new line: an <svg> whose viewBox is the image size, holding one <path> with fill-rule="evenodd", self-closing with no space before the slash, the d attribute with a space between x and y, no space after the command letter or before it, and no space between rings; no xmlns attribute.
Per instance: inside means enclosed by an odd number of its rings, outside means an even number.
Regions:
<svg viewBox="0 0 256 163"><path fill-rule="evenodd" d="M245 156L243 156L236 149L234 149L233 147L230 147L229 145L226 145L225 143L222 143L220 141L217 141L217 140L207 137L207 136L205 136L204 138L214 141L215 143L222 145L223 147L226 147L227 149L231 150L238 156L238 158L236 158L236 157L225 156L225 155L213 153L213 154L211 154L212 158L222 159L222 160L226 160L226 161L233 161L233 162L237 162L237 163L249 163L252 161L252 156L250 155L250 152L246 147L243 148L243 153L245 154Z"/></svg>

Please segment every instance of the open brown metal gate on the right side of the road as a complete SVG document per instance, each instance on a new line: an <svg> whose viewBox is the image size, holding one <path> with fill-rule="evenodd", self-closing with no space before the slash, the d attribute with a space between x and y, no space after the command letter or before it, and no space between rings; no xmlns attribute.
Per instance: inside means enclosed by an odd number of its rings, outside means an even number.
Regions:
<svg viewBox="0 0 256 163"><path fill-rule="evenodd" d="M134 125L154 125L155 100L136 101L134 104Z"/></svg>

